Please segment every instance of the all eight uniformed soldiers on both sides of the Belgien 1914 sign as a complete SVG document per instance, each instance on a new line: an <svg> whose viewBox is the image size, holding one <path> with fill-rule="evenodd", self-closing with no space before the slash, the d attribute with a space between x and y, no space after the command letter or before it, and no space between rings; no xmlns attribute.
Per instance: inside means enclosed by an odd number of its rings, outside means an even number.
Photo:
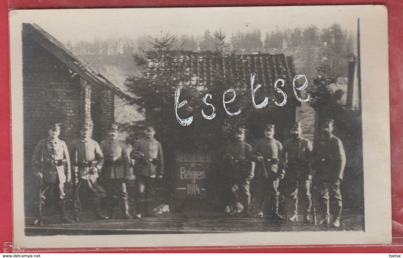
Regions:
<svg viewBox="0 0 403 258"><path fill-rule="evenodd" d="M77 213L81 192L86 193L97 220L113 219L114 208L120 205L123 219L132 219L129 214L127 180L131 177L131 160L135 160L136 177L136 214L135 218L154 217L153 198L155 180L164 176L164 158L161 143L154 138L154 126L147 125L145 137L139 139L129 150L122 141L118 141L118 125L112 124L108 130L108 139L100 144L91 139L92 124L84 123L80 129L80 137L71 142L69 147L58 138L60 123L49 126L47 139L39 141L33 156L33 173L40 179L40 194L34 223L42 224L41 205L44 194L53 189L58 197L57 206L62 223L78 221L77 214L70 219L66 209L65 183L72 182L73 196ZM265 200L270 200L271 219L283 220L279 213L279 197L286 199L285 209L290 211L289 221L297 221L298 191L302 190L306 207L303 214L305 222L310 221L312 207L311 186L318 192L322 204L321 224L330 223L330 207L334 227L339 227L342 212L340 192L345 152L343 143L332 134L333 120L326 120L320 126L320 137L317 144L304 139L301 123L297 122L290 130L291 139L282 145L274 139L274 125L265 126L265 137L253 148L245 142L245 127L235 131L235 142L231 143L223 155L223 164L229 176L232 215L239 213L239 203L244 207L247 217L264 217ZM99 175L105 178L103 186L98 182ZM313 176L314 175L314 176ZM255 190L258 209L251 212L250 188ZM283 186L283 187L280 187ZM104 188L105 187L105 188ZM85 188L85 189L83 189ZM106 189L106 190L105 190ZM84 191L81 191L84 190ZM106 197L107 216L100 210L100 198ZM78 201L78 202L77 202ZM81 205L79 205L81 208ZM269 209L269 210L270 210ZM288 215L288 214L287 214Z"/></svg>

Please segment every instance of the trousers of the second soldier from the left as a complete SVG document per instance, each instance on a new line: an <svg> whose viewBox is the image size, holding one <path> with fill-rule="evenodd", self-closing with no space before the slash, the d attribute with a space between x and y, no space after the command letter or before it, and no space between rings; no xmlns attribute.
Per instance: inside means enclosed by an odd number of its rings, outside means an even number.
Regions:
<svg viewBox="0 0 403 258"><path fill-rule="evenodd" d="M100 197L106 197L106 191L100 185L98 185L98 178L79 178L77 186L77 192L84 190L87 196L87 200L92 206L93 211L100 211Z"/></svg>

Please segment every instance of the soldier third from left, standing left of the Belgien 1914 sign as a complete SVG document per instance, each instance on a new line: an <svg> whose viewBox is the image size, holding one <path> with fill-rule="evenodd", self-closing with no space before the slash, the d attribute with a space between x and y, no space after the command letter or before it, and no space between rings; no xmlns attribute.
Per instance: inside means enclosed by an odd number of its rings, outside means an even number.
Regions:
<svg viewBox="0 0 403 258"><path fill-rule="evenodd" d="M101 142L101 150L105 158L102 174L106 178L108 217L113 219L113 208L119 199L123 218L132 219L129 215L129 195L126 189L126 180L130 179L129 156L126 144L116 139L118 129L118 125L112 124L108 139Z"/></svg>

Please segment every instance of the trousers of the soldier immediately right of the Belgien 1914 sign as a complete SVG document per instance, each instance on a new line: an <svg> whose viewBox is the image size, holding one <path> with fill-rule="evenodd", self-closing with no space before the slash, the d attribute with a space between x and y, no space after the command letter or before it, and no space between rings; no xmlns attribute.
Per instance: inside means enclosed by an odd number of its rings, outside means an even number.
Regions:
<svg viewBox="0 0 403 258"><path fill-rule="evenodd" d="M238 202L242 203L245 211L249 211L251 203L249 180L244 178L231 179L231 205L237 207Z"/></svg>

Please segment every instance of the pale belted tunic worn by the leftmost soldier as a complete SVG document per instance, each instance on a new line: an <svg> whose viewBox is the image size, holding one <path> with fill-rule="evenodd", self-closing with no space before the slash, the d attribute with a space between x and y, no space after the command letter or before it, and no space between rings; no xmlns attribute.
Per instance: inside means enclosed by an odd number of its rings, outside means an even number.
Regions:
<svg viewBox="0 0 403 258"><path fill-rule="evenodd" d="M42 158L44 166L41 164ZM63 159L66 160L67 165L55 166L52 164L52 161ZM41 172L42 166L44 182L62 184L66 182L66 174L71 175L69 151L66 143L60 139L48 138L39 141L33 151L31 164L35 175ZM66 171L65 166L67 166Z"/></svg>

